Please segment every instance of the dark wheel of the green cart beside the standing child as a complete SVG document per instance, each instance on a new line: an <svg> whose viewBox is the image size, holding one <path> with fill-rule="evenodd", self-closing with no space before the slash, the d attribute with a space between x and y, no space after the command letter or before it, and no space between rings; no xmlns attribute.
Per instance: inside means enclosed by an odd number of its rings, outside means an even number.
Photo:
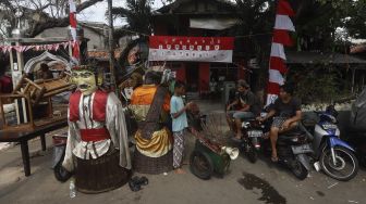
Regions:
<svg viewBox="0 0 366 204"><path fill-rule="evenodd" d="M213 164L205 152L194 151L190 158L190 169L196 177L208 180L212 176Z"/></svg>

